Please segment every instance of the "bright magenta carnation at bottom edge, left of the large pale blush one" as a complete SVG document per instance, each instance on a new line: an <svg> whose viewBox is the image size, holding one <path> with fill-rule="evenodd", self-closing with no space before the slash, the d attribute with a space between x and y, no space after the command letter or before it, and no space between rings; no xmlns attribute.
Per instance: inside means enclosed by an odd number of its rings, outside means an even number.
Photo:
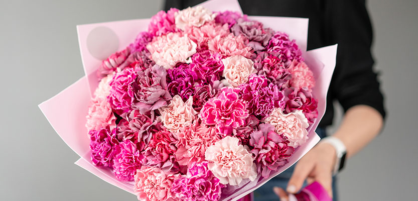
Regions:
<svg viewBox="0 0 418 201"><path fill-rule="evenodd" d="M208 162L195 163L185 177L173 182L171 192L184 201L216 201L221 197L219 182L208 169Z"/></svg>

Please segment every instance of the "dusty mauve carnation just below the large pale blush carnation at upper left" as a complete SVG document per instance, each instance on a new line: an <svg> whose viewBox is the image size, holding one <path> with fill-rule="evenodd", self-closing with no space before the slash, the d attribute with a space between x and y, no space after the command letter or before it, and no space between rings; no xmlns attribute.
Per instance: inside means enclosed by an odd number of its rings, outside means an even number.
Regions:
<svg viewBox="0 0 418 201"><path fill-rule="evenodd" d="M166 75L166 69L159 65L138 71L132 86L135 96L134 107L140 113L166 106L168 100L172 98L167 90Z"/></svg>

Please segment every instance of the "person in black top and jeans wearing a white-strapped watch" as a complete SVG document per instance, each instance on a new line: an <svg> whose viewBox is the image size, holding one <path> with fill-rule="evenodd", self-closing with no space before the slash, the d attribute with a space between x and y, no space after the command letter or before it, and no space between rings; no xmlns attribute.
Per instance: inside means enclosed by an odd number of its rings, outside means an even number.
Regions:
<svg viewBox="0 0 418 201"><path fill-rule="evenodd" d="M166 10L185 9L204 1L168 0ZM337 200L336 174L346 159L370 143L381 131L385 109L371 54L371 22L363 0L239 0L242 11L253 16L309 18L308 50L338 44L337 63L327 96L327 110L316 130L322 140L296 165L255 190L255 200L288 199L304 185L318 181ZM220 5L221 6L221 5ZM333 102L344 109L335 133Z"/></svg>

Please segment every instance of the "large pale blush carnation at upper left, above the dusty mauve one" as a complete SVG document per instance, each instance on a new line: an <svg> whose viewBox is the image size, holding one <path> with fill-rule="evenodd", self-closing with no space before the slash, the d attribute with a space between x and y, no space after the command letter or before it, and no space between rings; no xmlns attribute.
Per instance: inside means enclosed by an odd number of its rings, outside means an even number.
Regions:
<svg viewBox="0 0 418 201"><path fill-rule="evenodd" d="M147 45L151 58L156 64L166 69L172 69L177 63L190 63L189 58L196 53L196 43L180 32L168 33L155 37Z"/></svg>

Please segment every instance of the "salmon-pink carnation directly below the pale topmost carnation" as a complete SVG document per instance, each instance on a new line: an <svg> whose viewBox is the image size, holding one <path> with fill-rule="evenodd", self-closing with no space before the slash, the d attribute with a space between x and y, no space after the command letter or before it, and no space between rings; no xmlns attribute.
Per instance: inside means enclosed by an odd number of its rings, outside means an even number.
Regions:
<svg viewBox="0 0 418 201"><path fill-rule="evenodd" d="M220 26L215 23L206 23L201 27L186 27L185 32L197 44L198 49L207 49L208 41L216 36L225 37L230 33L227 24Z"/></svg>

